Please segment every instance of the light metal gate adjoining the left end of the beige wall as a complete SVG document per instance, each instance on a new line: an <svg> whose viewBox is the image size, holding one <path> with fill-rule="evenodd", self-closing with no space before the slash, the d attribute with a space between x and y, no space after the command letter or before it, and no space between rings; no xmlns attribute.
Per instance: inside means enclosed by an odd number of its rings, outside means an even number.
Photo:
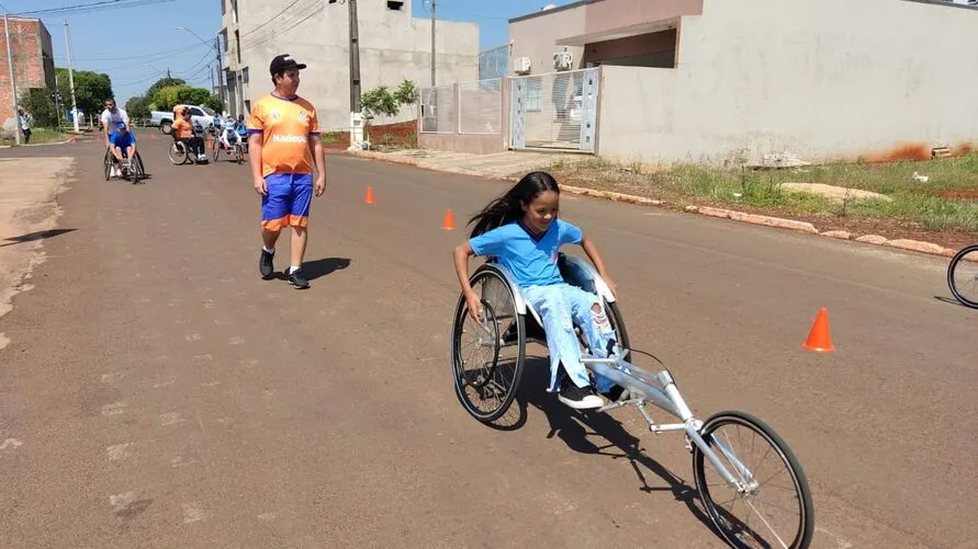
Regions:
<svg viewBox="0 0 978 549"><path fill-rule="evenodd" d="M582 69L514 78L510 145L594 150L597 76Z"/></svg>

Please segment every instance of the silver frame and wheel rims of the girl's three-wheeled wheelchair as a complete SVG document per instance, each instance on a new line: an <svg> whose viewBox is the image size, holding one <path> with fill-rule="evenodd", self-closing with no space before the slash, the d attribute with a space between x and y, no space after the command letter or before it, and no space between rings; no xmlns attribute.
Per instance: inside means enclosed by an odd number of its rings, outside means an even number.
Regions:
<svg viewBox="0 0 978 549"><path fill-rule="evenodd" d="M706 421L701 421L696 418L689 405L686 403L686 400L679 392L676 381L668 369L651 373L639 368L627 359L632 351L629 348L628 334L625 330L625 323L623 320L620 318L620 311L618 310L614 294L611 293L607 283L597 273L597 270L594 268L594 266L589 262L585 261L582 258L565 255L563 253L560 254L559 264L561 265L561 273L567 284L577 286L586 291L591 291L597 295L598 299L604 301L603 305L605 306L606 312L614 323L616 334L618 334L618 338L616 338L619 340L617 342L618 352L615 355L607 358L599 358L587 352L583 353L582 362L592 374L605 376L619 386L623 387L628 391L628 398L622 398L617 402L608 403L597 409L596 411L600 413L627 405L634 405L648 423L649 430L651 432L655 434L666 432L683 432L685 434L686 449L693 454L694 474L696 477L696 483L699 490L700 499L704 501L705 507L707 508L708 515L710 516L713 525L717 527L722 537L731 545L737 544L737 536L735 533L728 533L729 527L726 525L724 517L721 516L720 512L716 508L717 504L713 502L709 493L709 489L706 485L707 482L705 481L706 477L704 470L704 458L706 458L710 462L710 465L713 466L713 468L717 470L717 472L720 474L728 487L735 490L739 496L747 500L749 497L752 497L760 492L762 483L754 478L751 469L746 465L744 465L741 459L738 458L730 445L721 441L720 437L712 436L712 433L724 424L746 426L760 433L762 438L765 438L774 447L776 454L787 466L794 481L796 495L800 506L801 516L799 517L798 529L791 544L787 545L780 539L780 537L777 536L776 533L774 534L774 536L777 538L778 542L783 547L809 547L814 533L814 512L811 500L811 491L808 487L808 481L805 477L805 473L801 470L800 465L798 465L797 458L787 446L787 444L784 443L780 436L778 436L767 424L765 424L761 420L743 412L719 412L711 415ZM513 299L514 314L522 316L524 318L532 318L542 329L543 323L541 319L533 310L533 308L528 304L519 286L515 283L513 275L505 266L495 262L493 258L490 258L486 263L476 268L476 271L471 275L470 283L472 283L473 288L475 287L479 277L490 271L494 273L493 276L501 277L504 281L505 285L508 286L507 289ZM521 345L521 348L519 348L517 355L517 371L514 375L513 380L514 387L508 390L506 398L503 400L503 403L497 410L485 415L480 415L476 414L470 408L469 403L465 402L465 387L460 382L458 365L460 344L457 339L459 339L460 330L458 325L453 327L451 359L452 367L456 374L456 394L471 415L483 423L491 423L502 416L512 405L516 389L522 376L522 367L525 366L526 362L526 343L532 341L546 346L547 341L546 336L543 339L540 339L527 334L527 327L519 327L519 324L517 324L517 332L524 333L521 334L521 336L517 338L515 343L507 343L505 341L504 334L499 332L498 327L498 319L503 317L497 317L493 309L493 306L484 298L482 299L482 305L484 308L484 313L481 325L488 336L479 338L476 345L492 347L494 350L493 369L495 369L496 365L498 364L499 351L502 347ZM460 296L458 306L456 308L456 323L458 324L459 322L464 322L468 313L468 305L465 302L464 296ZM495 327L495 331L490 329L490 323ZM485 384L487 385L488 380L486 380ZM645 410L645 404L650 402L677 418L681 423L656 423L649 411ZM715 451L715 449L718 451ZM731 466L730 468L724 466L718 454L722 455L722 457L728 460ZM751 505L750 502L747 504ZM751 507L754 508L753 505L751 505ZM754 508L754 512L760 515L760 512L757 512L756 508ZM771 529L772 531L774 530L774 528L772 528L771 525L763 519L763 517L762 521L768 529Z"/></svg>

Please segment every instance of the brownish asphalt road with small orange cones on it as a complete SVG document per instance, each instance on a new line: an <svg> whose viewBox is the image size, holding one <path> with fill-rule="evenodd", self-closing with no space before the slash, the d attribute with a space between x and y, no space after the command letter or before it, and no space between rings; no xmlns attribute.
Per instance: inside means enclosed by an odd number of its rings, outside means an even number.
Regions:
<svg viewBox="0 0 978 549"><path fill-rule="evenodd" d="M574 413L539 364L518 428L456 400L464 236L441 220L507 184L327 157L296 291L258 275L247 167L173 167L166 144L140 134L140 185L105 182L93 142L0 151L78 157L74 230L0 319L0 547L721 546L682 437L634 411ZM816 547L978 547L976 317L946 301L946 260L562 207L694 411L754 413L796 451ZM801 347L820 307L829 355Z"/></svg>

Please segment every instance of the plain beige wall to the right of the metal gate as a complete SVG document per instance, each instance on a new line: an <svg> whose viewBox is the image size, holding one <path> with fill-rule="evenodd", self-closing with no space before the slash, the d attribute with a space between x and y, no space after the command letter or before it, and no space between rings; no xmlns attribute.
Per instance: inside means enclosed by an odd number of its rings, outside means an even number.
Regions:
<svg viewBox="0 0 978 549"><path fill-rule="evenodd" d="M677 69L603 67L599 153L818 161L975 142L976 35L978 10L952 5L706 0L682 21Z"/></svg>

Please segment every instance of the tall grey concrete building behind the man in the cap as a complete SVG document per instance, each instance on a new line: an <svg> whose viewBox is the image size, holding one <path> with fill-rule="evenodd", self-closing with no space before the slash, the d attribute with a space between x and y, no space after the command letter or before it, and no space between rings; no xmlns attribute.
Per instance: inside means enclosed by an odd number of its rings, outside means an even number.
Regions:
<svg viewBox="0 0 978 549"><path fill-rule="evenodd" d="M278 54L291 54L308 65L299 93L317 108L326 129L347 129L350 124L349 19L345 2L325 0L220 0L224 13L221 31L226 54L224 73L228 111L247 113L268 93L269 62ZM411 1L358 2L361 93L404 79L420 88L431 82L431 24L412 16ZM438 21L436 24L436 81L473 80L477 73L479 25ZM395 118L417 116L407 108Z"/></svg>

